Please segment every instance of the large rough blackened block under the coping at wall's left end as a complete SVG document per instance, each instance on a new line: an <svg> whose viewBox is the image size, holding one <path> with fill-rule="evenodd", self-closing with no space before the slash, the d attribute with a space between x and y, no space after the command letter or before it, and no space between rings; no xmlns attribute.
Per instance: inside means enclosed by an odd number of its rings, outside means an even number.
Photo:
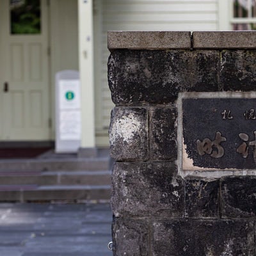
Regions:
<svg viewBox="0 0 256 256"><path fill-rule="evenodd" d="M116 50L109 56L108 81L115 104L174 102L189 85L184 51Z"/></svg>

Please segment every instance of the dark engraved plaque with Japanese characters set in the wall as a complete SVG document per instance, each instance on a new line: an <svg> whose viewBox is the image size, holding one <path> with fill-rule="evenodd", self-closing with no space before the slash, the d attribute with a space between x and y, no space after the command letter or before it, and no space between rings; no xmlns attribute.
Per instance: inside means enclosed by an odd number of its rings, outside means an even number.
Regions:
<svg viewBox="0 0 256 256"><path fill-rule="evenodd" d="M256 169L256 99L183 98L181 104L184 170Z"/></svg>

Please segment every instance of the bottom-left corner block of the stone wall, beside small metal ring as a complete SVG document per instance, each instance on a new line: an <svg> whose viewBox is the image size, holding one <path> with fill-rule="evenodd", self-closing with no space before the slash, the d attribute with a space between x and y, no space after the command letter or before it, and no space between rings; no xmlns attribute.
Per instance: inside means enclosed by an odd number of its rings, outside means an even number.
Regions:
<svg viewBox="0 0 256 256"><path fill-rule="evenodd" d="M149 255L149 226L147 221L115 218L112 230L114 256Z"/></svg>

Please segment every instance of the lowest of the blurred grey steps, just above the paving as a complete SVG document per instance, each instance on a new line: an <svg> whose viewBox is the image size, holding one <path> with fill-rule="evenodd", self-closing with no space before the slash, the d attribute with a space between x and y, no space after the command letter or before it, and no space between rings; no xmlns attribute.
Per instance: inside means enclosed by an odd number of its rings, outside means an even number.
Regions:
<svg viewBox="0 0 256 256"><path fill-rule="evenodd" d="M1 202L52 200L109 200L110 185L101 186L0 186Z"/></svg>

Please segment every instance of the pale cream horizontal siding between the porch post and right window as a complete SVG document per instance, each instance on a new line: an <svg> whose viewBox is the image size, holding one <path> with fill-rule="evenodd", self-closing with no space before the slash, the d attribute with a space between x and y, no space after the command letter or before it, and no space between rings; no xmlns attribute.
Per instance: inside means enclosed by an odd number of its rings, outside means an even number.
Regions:
<svg viewBox="0 0 256 256"><path fill-rule="evenodd" d="M107 31L216 30L218 0L98 0L102 1L102 129L109 127L113 103L108 88Z"/></svg>

